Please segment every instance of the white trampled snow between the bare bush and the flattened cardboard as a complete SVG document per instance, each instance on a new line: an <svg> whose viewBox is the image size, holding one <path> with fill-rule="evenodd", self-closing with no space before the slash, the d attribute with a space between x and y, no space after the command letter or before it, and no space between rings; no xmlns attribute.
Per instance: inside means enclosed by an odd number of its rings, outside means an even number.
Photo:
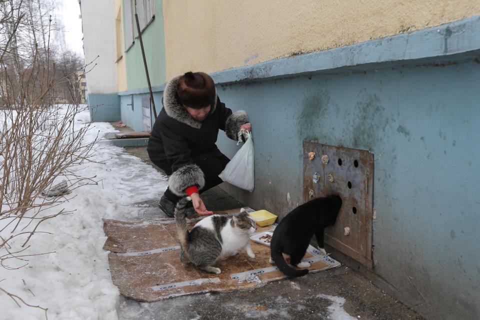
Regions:
<svg viewBox="0 0 480 320"><path fill-rule="evenodd" d="M75 120L79 125L88 122L88 111ZM109 123L96 122L86 138L112 131ZM37 233L30 241L31 253L55 252L27 257L29 264L17 270L0 267L0 287L29 304L48 308L49 320L117 318L118 290L111 283L107 251L102 249L106 237L101 219L134 216L139 208L132 203L159 198L167 186L165 177L139 158L108 141L98 145L102 149L95 160L103 163L89 163L81 171L82 176L96 175L98 184L74 189L69 196L75 197L63 207L76 211L42 222L39 230L53 234ZM43 310L18 307L0 291L0 320L42 318Z"/></svg>

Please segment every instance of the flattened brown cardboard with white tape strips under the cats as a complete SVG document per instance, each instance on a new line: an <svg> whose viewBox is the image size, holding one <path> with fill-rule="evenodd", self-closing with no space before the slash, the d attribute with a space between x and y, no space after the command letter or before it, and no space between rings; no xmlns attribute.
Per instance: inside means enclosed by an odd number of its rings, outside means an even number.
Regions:
<svg viewBox="0 0 480 320"><path fill-rule="evenodd" d="M232 215L239 212L238 208L215 213ZM189 219L190 229L201 217L194 215ZM257 232L272 231L273 227L258 227ZM176 226L172 218L147 222L103 219L103 230L107 235L103 248L110 251L108 261L113 284L122 295L136 300L156 301L198 292L247 289L286 277L268 262L269 246L254 241L251 241L254 259L242 250L235 256L219 260L214 266L221 269L220 274L183 264L178 257ZM311 245L304 260L311 263L310 272L340 265Z"/></svg>

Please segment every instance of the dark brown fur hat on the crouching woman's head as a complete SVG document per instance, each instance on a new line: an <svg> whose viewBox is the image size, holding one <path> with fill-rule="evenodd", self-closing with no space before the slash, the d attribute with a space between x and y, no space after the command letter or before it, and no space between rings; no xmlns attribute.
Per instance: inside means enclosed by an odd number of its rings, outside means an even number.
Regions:
<svg viewBox="0 0 480 320"><path fill-rule="evenodd" d="M215 84L204 72L186 72L178 79L176 92L183 105L200 109L213 105L216 99Z"/></svg>

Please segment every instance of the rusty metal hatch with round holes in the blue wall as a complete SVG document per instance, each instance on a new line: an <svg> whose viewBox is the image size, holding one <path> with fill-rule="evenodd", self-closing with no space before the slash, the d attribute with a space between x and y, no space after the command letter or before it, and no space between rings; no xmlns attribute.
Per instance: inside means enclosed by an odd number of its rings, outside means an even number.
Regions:
<svg viewBox="0 0 480 320"><path fill-rule="evenodd" d="M373 153L303 141L303 199L331 193L342 206L325 243L372 268Z"/></svg>

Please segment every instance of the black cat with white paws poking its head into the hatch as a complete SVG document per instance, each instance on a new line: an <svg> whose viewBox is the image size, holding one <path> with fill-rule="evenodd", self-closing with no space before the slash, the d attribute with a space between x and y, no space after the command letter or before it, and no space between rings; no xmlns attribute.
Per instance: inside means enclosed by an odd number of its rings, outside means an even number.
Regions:
<svg viewBox="0 0 480 320"><path fill-rule="evenodd" d="M301 262L313 234L318 248L323 252L323 229L335 223L340 211L341 198L338 195L319 197L291 210L277 225L270 241L270 263L275 263L288 276L300 276L308 269L294 269L287 264L283 254L290 256L290 263L299 268L310 266Z"/></svg>

